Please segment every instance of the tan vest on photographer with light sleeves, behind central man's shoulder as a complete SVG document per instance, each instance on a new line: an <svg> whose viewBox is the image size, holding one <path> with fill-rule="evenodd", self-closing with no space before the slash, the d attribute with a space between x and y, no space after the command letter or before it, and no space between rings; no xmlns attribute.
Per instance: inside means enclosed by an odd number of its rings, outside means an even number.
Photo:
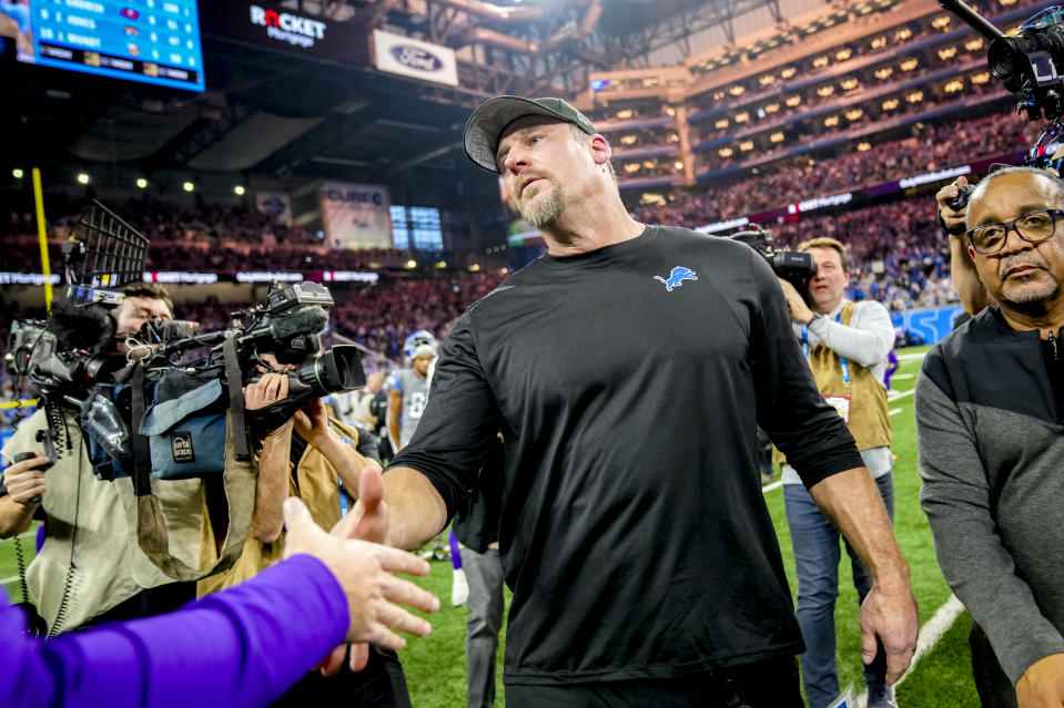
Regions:
<svg viewBox="0 0 1064 708"><path fill-rule="evenodd" d="M842 324L850 326L853 317L853 302L847 301L840 312ZM817 387L824 396L850 397L850 434L858 443L858 450L886 448L891 443L890 415L886 412L886 389L875 379L871 369L848 359L850 368L849 390L842 380L842 359L821 341L809 351L809 368L817 380ZM773 462L784 462L778 450L773 452Z"/></svg>

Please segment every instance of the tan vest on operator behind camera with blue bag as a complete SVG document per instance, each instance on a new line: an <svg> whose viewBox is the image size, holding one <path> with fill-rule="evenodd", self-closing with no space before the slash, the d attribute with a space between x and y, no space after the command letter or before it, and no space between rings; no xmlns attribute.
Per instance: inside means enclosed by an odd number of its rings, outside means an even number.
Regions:
<svg viewBox="0 0 1064 708"><path fill-rule="evenodd" d="M358 442L358 431L331 418L333 429ZM296 480L292 478L292 463L288 463L288 495L298 496L306 504L314 523L328 531L340 521L340 484L336 469L313 445L307 445L296 468ZM347 490L347 506L354 506L357 490ZM281 561L284 553L284 534L273 543L263 543L249 534L244 550L235 565L196 584L196 595L203 597L210 593L232 587L254 577L262 571Z"/></svg>

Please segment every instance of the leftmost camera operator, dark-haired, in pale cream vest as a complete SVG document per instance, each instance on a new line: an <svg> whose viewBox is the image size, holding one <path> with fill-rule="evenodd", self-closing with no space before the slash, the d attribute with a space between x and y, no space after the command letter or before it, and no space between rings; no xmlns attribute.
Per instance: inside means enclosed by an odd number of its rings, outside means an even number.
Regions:
<svg viewBox="0 0 1064 708"><path fill-rule="evenodd" d="M173 318L173 301L165 288L134 284L124 293L125 299L113 312L112 351L118 352L129 351L126 338L150 318ZM37 455L9 464L0 483L0 537L24 532L33 519L44 522L43 545L29 565L27 584L49 633L170 612L192 599L194 584L174 583L140 552L134 526L128 521L132 480L97 479L78 411L53 407L58 459L41 452L49 429L48 411L42 408L19 427L2 451L9 462L19 453ZM49 463L52 466L43 471ZM189 480L174 489L195 503L195 484Z"/></svg>

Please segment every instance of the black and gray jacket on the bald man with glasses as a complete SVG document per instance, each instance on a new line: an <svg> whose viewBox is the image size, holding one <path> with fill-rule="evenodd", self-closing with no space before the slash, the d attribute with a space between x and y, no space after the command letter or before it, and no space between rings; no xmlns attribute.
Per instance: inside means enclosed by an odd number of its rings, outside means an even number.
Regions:
<svg viewBox="0 0 1064 708"><path fill-rule="evenodd" d="M936 345L916 382L935 554L1013 683L1064 651L1061 417L1038 332L996 307Z"/></svg>

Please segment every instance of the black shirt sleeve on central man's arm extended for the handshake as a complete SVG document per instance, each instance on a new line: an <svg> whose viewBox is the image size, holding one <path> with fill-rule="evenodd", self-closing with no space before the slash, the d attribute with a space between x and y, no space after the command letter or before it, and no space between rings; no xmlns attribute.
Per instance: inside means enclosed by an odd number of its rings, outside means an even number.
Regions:
<svg viewBox="0 0 1064 708"><path fill-rule="evenodd" d="M433 483L450 519L503 429L498 407L477 357L472 307L444 341L428 404L409 444L389 466L417 470Z"/></svg>

